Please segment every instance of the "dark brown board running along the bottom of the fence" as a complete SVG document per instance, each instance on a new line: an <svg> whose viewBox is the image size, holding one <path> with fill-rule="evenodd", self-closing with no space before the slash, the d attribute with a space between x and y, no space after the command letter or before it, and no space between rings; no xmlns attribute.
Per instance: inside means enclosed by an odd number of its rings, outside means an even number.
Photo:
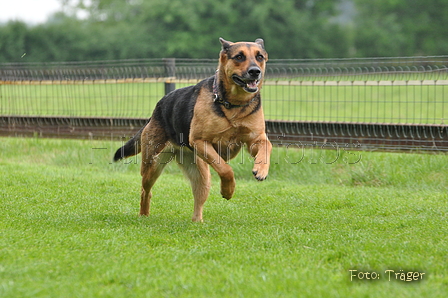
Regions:
<svg viewBox="0 0 448 298"><path fill-rule="evenodd" d="M123 141L147 121L146 118L2 116L0 136ZM439 125L267 121L266 131L273 144L302 149L448 151L448 126Z"/></svg>

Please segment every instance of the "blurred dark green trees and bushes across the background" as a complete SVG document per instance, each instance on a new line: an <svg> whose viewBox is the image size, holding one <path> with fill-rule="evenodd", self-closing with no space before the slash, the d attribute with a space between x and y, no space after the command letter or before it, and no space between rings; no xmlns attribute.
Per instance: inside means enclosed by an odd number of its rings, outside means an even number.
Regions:
<svg viewBox="0 0 448 298"><path fill-rule="evenodd" d="M448 54L446 0L61 0L46 23L0 24L1 62L216 58L218 37L270 58Z"/></svg>

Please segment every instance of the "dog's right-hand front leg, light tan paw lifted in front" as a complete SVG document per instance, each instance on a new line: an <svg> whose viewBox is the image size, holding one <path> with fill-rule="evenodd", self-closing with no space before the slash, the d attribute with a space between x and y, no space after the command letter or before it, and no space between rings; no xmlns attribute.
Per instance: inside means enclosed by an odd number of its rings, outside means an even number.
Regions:
<svg viewBox="0 0 448 298"><path fill-rule="evenodd" d="M272 144L268 140L266 134L263 134L260 138L247 145L249 153L255 159L252 173L254 174L255 179L263 181L269 173Z"/></svg>

